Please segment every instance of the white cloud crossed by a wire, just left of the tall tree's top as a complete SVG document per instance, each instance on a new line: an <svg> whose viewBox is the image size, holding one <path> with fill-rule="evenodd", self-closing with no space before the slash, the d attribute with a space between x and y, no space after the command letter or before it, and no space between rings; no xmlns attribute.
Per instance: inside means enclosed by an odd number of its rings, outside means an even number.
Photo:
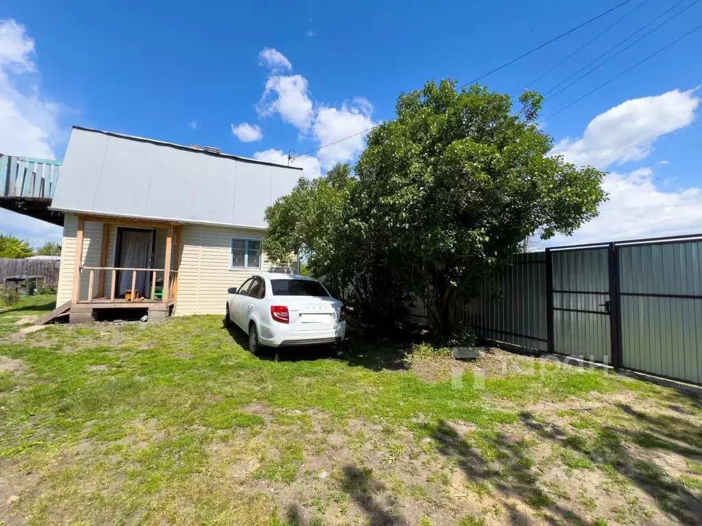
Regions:
<svg viewBox="0 0 702 526"><path fill-rule="evenodd" d="M339 141L319 150L317 155L323 168L329 169L336 163L349 161L364 148L366 133L362 132L376 126L371 119L372 113L372 104L362 97L344 102L340 109L319 107L312 128L315 140L320 146Z"/></svg>

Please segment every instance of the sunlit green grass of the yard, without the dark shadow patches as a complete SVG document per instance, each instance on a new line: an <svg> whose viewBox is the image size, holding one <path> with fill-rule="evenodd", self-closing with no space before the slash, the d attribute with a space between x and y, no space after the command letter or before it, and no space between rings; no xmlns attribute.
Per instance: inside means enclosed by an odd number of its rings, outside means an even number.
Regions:
<svg viewBox="0 0 702 526"><path fill-rule="evenodd" d="M0 311L2 331L16 332L18 316L46 313L51 298L39 298L23 300L23 310ZM376 345L374 352L382 356L394 344ZM402 458L427 459L426 484L402 483L386 473L387 494L430 507L439 497L428 488L437 488L441 499L450 499L451 480L436 464L450 454L458 459L454 464L471 459L484 465L482 478L465 485L471 495L489 498L497 488L513 485L524 488L517 493L541 513L557 492L537 484L538 463L546 463L534 457L539 441L526 435L505 438L503 429L549 424L517 407L567 407L571 398L623 390L658 400L672 396L602 371L578 372L538 360L525 374L482 379L466 370L457 388L455 375L427 382L406 370L362 363L353 348L317 357L305 352L252 356L218 316L155 325L55 325L24 339L6 339L0 356L22 360L25 370L0 372L0 467L12 463L25 473L39 473L41 492L20 501L37 525L59 518L91 524L286 524L291 521L262 487L317 480L319 470L304 467L310 451L338 447L362 464L364 445L373 443L391 470L402 470ZM426 346L422 356L432 356ZM620 410L611 411L621 417ZM566 409L558 415L571 429L550 461L571 472L604 473L612 487L630 484L616 469L622 438L605 425L611 415ZM352 422L373 426L374 434L370 428L353 429ZM458 433L451 422L472 427ZM411 433L413 443L401 442L402 432ZM342 445L315 443L333 433L343 437ZM696 447L698 436L683 440ZM635 431L631 441L651 448L674 445L648 428ZM231 466L237 467L234 475ZM654 466L644 467L653 483L670 484ZM699 491L694 476L702 473L699 462L691 460L689 471L677 484ZM376 475L364 466L330 474L339 486L331 500L340 513L348 499L380 491ZM249 485L240 483L243 478ZM580 500L592 508L589 496ZM322 520L319 514L331 504L310 501L310 506L317 510L314 520ZM629 503L617 513L648 512ZM483 519L465 515L462 520L481 524Z"/></svg>

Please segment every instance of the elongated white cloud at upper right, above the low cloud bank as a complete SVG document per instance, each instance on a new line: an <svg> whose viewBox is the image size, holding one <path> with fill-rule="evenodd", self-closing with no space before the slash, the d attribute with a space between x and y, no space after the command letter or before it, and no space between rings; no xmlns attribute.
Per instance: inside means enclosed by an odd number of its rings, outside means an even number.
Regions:
<svg viewBox="0 0 702 526"><path fill-rule="evenodd" d="M627 100L592 119L580 139L566 137L558 142L552 153L562 153L567 161L577 165L592 164L598 168L644 159L651 153L654 141L623 147L687 126L694 121L699 103L694 90L672 90Z"/></svg>

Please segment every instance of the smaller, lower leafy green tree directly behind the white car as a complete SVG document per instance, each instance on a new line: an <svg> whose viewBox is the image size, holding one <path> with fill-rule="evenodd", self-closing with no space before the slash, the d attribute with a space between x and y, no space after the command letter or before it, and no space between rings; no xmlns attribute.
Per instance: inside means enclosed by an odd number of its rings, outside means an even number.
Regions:
<svg viewBox="0 0 702 526"><path fill-rule="evenodd" d="M392 275L385 243L369 238L354 220L349 196L355 184L347 164L324 177L300 179L267 208L263 250L279 265L299 255L306 273L322 279L355 313L384 324L406 314L409 296Z"/></svg>

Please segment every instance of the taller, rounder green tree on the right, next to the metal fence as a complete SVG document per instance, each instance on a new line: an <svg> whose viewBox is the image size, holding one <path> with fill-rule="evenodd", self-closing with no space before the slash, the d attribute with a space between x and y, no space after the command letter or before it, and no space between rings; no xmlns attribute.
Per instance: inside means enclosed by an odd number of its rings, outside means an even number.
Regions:
<svg viewBox="0 0 702 526"><path fill-rule="evenodd" d="M541 95L444 80L400 95L397 119L368 137L355 166L359 228L388 244L390 262L422 299L437 332L456 306L535 232L572 234L597 215L604 173L549 156L536 124Z"/></svg>

